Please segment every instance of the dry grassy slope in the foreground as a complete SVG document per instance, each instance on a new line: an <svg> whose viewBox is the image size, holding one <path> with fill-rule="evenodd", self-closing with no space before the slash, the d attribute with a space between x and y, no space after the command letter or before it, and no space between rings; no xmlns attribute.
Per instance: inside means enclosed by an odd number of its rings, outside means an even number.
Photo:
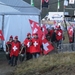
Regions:
<svg viewBox="0 0 75 75"><path fill-rule="evenodd" d="M17 66L14 75L75 75L74 70L75 53L60 53L25 61Z"/></svg>

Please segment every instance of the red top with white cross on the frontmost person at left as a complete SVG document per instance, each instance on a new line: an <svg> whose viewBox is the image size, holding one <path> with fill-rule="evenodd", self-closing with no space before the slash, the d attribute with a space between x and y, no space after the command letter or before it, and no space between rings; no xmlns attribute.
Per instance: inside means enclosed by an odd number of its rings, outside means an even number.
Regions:
<svg viewBox="0 0 75 75"><path fill-rule="evenodd" d="M20 47L21 47L20 42L12 42L10 57L13 56L13 55L18 56L19 52L20 52Z"/></svg>

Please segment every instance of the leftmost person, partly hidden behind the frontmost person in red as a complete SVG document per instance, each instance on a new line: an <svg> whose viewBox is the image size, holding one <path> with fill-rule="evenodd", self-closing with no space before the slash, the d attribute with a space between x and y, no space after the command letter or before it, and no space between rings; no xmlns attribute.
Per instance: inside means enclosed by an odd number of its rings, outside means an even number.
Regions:
<svg viewBox="0 0 75 75"><path fill-rule="evenodd" d="M9 41L6 42L6 58L9 61L8 64L11 63L10 51L11 51L12 42L13 42L13 36L11 35Z"/></svg>

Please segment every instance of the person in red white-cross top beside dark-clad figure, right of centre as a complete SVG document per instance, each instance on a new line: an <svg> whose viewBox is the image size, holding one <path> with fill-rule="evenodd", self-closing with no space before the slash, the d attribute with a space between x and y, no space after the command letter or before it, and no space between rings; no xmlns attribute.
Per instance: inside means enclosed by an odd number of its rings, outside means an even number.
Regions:
<svg viewBox="0 0 75 75"><path fill-rule="evenodd" d="M56 31L57 48L60 47L60 44L62 43L62 39L63 39L63 31L59 26L59 28Z"/></svg>

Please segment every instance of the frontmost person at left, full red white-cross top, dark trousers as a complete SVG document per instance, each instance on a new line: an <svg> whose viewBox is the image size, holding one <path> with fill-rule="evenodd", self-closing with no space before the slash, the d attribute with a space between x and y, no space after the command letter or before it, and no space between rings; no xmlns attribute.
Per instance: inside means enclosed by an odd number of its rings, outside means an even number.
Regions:
<svg viewBox="0 0 75 75"><path fill-rule="evenodd" d="M17 65L20 47L21 47L21 43L20 41L18 41L18 36L15 36L14 41L12 42L11 52L10 52L11 66Z"/></svg>

